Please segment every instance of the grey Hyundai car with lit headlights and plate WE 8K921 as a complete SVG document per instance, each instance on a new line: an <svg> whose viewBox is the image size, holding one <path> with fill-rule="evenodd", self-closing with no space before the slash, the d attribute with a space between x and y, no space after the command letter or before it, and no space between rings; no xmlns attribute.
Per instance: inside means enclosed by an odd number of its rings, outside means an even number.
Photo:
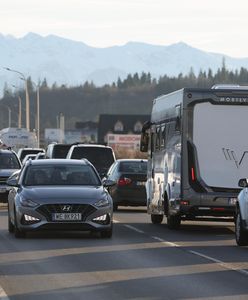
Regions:
<svg viewBox="0 0 248 300"><path fill-rule="evenodd" d="M8 230L99 231L112 236L113 203L96 169L85 159L30 160L8 180Z"/></svg>

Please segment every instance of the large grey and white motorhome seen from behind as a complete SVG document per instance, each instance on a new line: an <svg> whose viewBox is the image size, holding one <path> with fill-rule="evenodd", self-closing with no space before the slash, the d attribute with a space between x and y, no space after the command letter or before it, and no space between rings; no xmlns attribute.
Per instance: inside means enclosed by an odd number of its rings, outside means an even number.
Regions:
<svg viewBox="0 0 248 300"><path fill-rule="evenodd" d="M153 101L141 151L148 151L147 209L152 223L234 217L248 177L248 89L184 88Z"/></svg>

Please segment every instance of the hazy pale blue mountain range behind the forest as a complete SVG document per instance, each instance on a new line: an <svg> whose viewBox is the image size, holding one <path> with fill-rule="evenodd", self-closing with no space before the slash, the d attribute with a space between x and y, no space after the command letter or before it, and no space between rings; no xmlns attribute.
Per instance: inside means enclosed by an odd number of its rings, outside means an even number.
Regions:
<svg viewBox="0 0 248 300"><path fill-rule="evenodd" d="M28 33L15 38L0 34L0 91L5 83L17 85L19 80L17 73L8 72L4 67L31 76L34 82L46 78L49 85L56 82L76 86L93 81L101 86L136 72L150 72L152 78L187 74L191 68L196 75L209 68L215 72L222 66L223 58L227 69L248 68L248 58L210 53L183 42L169 46L129 42L123 46L95 48L55 35L42 37Z"/></svg>

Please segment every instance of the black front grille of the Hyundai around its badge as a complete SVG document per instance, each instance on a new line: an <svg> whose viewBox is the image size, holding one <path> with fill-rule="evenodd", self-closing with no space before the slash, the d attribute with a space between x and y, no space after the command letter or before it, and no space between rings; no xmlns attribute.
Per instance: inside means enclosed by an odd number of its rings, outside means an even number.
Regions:
<svg viewBox="0 0 248 300"><path fill-rule="evenodd" d="M69 211L63 210L64 207L70 206ZM36 209L37 212L46 217L48 221L52 221L54 213L81 213L82 221L85 221L89 215L97 209L89 204L45 204Z"/></svg>

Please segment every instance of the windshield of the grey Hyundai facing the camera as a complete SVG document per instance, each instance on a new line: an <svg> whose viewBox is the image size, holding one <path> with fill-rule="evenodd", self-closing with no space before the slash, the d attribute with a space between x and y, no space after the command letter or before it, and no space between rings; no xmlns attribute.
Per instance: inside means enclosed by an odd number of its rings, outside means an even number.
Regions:
<svg viewBox="0 0 248 300"><path fill-rule="evenodd" d="M30 165L25 172L24 186L40 185L94 185L101 182L88 165Z"/></svg>

